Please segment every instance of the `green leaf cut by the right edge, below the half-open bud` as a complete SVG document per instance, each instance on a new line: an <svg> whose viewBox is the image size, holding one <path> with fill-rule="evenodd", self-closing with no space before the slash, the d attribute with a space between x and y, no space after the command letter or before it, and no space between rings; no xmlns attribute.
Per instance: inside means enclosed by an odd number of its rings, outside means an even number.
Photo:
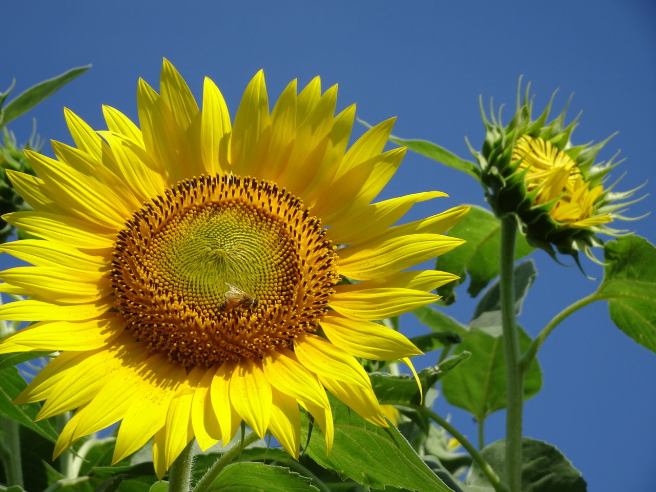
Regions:
<svg viewBox="0 0 656 492"><path fill-rule="evenodd" d="M656 352L656 248L640 236L604 245L604 280L597 294L608 300L613 323Z"/></svg>

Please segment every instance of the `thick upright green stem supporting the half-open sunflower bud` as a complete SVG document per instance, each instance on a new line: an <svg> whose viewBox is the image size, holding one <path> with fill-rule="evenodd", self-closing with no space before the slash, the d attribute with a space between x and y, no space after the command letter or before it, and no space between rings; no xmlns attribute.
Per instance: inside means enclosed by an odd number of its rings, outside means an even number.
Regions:
<svg viewBox="0 0 656 492"><path fill-rule="evenodd" d="M501 219L501 262L499 287L503 346L506 358L506 457L505 466L511 492L522 484L523 373L520 367L520 340L515 321L514 263L517 224L512 216Z"/></svg>

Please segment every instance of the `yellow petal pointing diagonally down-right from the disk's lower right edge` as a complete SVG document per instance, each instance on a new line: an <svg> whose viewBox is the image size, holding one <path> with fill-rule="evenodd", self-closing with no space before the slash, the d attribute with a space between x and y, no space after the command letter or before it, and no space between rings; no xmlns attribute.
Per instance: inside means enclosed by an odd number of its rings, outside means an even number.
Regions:
<svg viewBox="0 0 656 492"><path fill-rule="evenodd" d="M298 361L316 375L371 388L369 376L354 356L316 335L302 335L294 342ZM306 401L308 403L308 401Z"/></svg>

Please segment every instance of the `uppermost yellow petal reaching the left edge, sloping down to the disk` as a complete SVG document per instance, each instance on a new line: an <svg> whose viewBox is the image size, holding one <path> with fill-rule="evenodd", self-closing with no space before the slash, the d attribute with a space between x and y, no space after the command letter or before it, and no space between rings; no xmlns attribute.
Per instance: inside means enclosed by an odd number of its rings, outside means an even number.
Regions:
<svg viewBox="0 0 656 492"><path fill-rule="evenodd" d="M103 249L112 248L114 245L113 236L91 231L87 222L54 213L12 212L2 218L28 234L60 241L73 247Z"/></svg>

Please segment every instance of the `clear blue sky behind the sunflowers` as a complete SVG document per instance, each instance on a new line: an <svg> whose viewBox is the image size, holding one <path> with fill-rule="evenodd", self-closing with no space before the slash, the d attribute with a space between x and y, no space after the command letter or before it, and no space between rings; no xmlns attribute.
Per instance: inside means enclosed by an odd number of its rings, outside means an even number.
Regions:
<svg viewBox="0 0 656 492"><path fill-rule="evenodd" d="M653 193L656 134L656 3L652 0L564 1L30 1L3 7L0 86L16 77L20 92L73 66L92 70L34 110L39 133L70 142L62 107L102 126L101 104L136 118L136 79L157 85L166 56L200 94L209 75L232 112L253 74L264 68L270 97L298 77L321 75L340 84L340 108L358 102L370 122L398 116L395 133L434 140L463 157L464 136L480 146L478 94L512 108L520 74L532 81L537 106L560 88L571 92L571 117L583 110L575 142L615 131L602 158L621 149L626 172L619 189L649 180ZM510 109L509 108L509 109ZM512 109L511 109L512 110ZM511 111L506 112L510 115ZM19 139L30 118L11 128ZM47 150L49 152L49 150ZM411 218L460 203L483 204L464 174L409 155L384 195L441 190L448 199L417 207ZM653 209L653 197L630 213ZM627 224L656 241L656 216ZM539 277L520 323L535 335L556 312L594 291L576 268L557 266L538 251ZM0 258L3 266L8 259ZM600 272L588 262L592 276ZM464 289L447 314L467 321ZM419 333L412 317L402 330ZM434 363L425 356L420 365ZM525 434L558 446L583 472L590 491L653 490L656 480L656 355L611 323L607 306L592 304L560 325L539 359L542 392L525 405ZM438 400L436 410L474 440L471 419ZM502 437L503 412L487 441ZM628 478L624 478L628 474Z"/></svg>

